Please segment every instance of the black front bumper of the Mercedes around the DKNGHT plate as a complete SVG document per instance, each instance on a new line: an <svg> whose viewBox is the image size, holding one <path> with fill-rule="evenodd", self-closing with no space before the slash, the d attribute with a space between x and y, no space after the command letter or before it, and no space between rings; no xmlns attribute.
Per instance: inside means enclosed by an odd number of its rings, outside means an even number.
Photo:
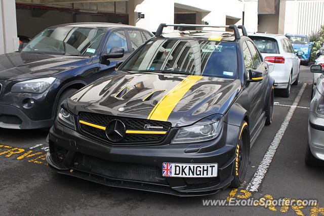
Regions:
<svg viewBox="0 0 324 216"><path fill-rule="evenodd" d="M232 167L238 133L238 126L225 123L221 135L206 143L113 148L56 122L50 129L50 152L46 159L60 174L107 186L177 196L209 195L228 187L233 180ZM163 162L216 162L218 176L165 178L161 175Z"/></svg>

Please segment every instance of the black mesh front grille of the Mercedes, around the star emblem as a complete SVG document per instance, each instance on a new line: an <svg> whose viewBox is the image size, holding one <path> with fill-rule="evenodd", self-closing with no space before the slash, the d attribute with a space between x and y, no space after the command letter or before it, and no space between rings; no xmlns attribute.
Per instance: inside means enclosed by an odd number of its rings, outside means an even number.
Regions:
<svg viewBox="0 0 324 216"><path fill-rule="evenodd" d="M151 126L160 126L163 127L161 129L157 129L156 131L169 131L171 127L170 122L165 121L154 121L147 119L137 119L137 118L127 118L127 117L119 117L119 116L109 116L97 113L88 113L81 112L79 114L79 119L84 120L93 124L98 124L101 126L106 126L113 119L118 119L124 122L126 125L126 129L129 130L143 130L145 124L149 124ZM106 136L106 132L102 129L89 126L86 124L79 124L81 132L84 132L85 135L91 136L95 139L101 139L106 142L111 143ZM155 130L154 130L155 131ZM119 142L115 142L115 144L148 144L148 143L159 143L161 142L166 135L160 134L126 134L125 138Z"/></svg>

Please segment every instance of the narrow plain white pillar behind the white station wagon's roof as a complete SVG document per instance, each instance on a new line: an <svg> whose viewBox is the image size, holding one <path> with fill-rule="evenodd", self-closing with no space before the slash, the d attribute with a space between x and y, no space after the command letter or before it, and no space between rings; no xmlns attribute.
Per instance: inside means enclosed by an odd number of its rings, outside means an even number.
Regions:
<svg viewBox="0 0 324 216"><path fill-rule="evenodd" d="M248 32L258 31L258 0L245 0L244 26Z"/></svg>

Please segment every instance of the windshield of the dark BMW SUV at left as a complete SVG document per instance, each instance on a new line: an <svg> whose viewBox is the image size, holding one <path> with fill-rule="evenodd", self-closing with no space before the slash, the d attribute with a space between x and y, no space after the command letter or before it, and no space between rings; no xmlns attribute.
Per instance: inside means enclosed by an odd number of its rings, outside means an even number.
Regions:
<svg viewBox="0 0 324 216"><path fill-rule="evenodd" d="M105 31L97 28L48 28L33 38L21 52L91 56Z"/></svg>

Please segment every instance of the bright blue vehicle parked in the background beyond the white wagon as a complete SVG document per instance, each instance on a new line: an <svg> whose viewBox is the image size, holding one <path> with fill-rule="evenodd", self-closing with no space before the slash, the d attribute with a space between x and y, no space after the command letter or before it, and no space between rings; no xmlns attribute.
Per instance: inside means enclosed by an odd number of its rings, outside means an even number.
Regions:
<svg viewBox="0 0 324 216"><path fill-rule="evenodd" d="M308 65L314 42L310 42L307 35L286 34L286 37L288 37L288 39L292 43L296 54L298 51L304 52L304 54L299 56L299 58L302 65Z"/></svg>

